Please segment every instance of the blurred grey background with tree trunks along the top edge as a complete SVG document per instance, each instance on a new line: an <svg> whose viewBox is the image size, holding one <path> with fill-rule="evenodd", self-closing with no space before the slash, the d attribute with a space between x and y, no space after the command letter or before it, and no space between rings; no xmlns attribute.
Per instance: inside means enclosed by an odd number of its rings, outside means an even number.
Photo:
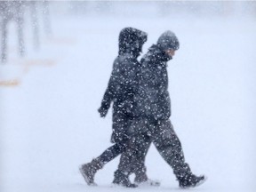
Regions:
<svg viewBox="0 0 256 192"><path fill-rule="evenodd" d="M134 20L175 20L184 14L212 20L256 17L254 1L0 1L0 10L1 63L8 62L12 52L14 56L26 57L33 54L32 51L40 51L40 46L44 46L43 37L54 36L56 23L52 20L60 15ZM10 36L13 33L15 36ZM16 48L12 48L12 43Z"/></svg>

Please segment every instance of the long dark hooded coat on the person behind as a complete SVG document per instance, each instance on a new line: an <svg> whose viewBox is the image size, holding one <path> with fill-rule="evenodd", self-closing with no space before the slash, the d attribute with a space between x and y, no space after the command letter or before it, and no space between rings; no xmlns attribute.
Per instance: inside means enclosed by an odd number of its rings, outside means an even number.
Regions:
<svg viewBox="0 0 256 192"><path fill-rule="evenodd" d="M124 28L119 35L119 52L113 64L108 88L100 110L107 110L113 101L113 142L127 140L126 131L133 118L134 94L138 87L138 70L142 45L147 34L135 28Z"/></svg>

